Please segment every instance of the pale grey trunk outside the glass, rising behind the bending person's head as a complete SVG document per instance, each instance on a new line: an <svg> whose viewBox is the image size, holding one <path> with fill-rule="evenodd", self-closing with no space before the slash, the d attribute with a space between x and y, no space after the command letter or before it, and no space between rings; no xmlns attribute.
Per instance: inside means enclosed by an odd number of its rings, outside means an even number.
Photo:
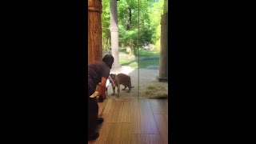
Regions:
<svg viewBox="0 0 256 144"><path fill-rule="evenodd" d="M114 57L113 68L119 65L119 46L118 46L118 7L117 0L110 0L110 32L111 32L111 50Z"/></svg>

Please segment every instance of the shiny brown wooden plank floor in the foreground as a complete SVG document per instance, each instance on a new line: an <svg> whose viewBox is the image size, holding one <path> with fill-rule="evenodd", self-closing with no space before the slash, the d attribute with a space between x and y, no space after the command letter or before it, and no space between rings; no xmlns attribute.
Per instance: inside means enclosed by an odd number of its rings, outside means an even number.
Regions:
<svg viewBox="0 0 256 144"><path fill-rule="evenodd" d="M92 144L168 143L168 100L108 98L98 103L105 121Z"/></svg>

